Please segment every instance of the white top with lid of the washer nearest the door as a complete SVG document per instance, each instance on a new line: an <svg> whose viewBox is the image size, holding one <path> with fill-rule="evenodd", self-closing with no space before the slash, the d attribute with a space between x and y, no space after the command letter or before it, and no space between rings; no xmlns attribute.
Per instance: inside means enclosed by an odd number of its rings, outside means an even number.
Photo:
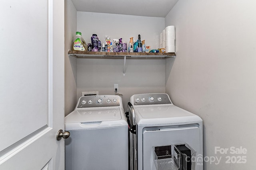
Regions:
<svg viewBox="0 0 256 170"><path fill-rule="evenodd" d="M121 112L116 108L76 109L65 117L65 123L86 123L120 120Z"/></svg>

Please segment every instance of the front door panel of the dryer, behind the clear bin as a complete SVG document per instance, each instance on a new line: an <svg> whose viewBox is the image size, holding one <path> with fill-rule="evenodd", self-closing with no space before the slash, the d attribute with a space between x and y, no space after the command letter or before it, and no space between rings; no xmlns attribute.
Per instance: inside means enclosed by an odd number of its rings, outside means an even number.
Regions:
<svg viewBox="0 0 256 170"><path fill-rule="evenodd" d="M143 170L158 170L156 168L156 160L154 147L188 144L200 156L200 128L195 126L186 127L154 127L144 128L143 130ZM173 151L172 151L173 152ZM193 162L192 162L193 163ZM193 163L195 170L200 170L200 165Z"/></svg>

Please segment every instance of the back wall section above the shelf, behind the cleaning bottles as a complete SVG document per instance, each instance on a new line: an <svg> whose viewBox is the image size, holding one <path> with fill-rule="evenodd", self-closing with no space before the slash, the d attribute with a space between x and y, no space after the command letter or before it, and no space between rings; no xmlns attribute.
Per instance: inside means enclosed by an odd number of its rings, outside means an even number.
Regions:
<svg viewBox="0 0 256 170"><path fill-rule="evenodd" d="M105 35L111 40L120 39L129 43L130 37L141 40L152 49L159 47L159 34L164 29L164 18L129 16L120 14L103 14L95 12L77 12L77 30L87 43L91 43L91 36L96 33L102 43ZM106 43L105 43L106 44Z"/></svg>

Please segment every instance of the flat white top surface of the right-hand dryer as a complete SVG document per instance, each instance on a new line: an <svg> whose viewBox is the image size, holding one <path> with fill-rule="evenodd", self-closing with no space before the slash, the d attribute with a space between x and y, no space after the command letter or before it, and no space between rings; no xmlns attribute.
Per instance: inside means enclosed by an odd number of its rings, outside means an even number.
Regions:
<svg viewBox="0 0 256 170"><path fill-rule="evenodd" d="M134 107L138 125L156 125L202 121L202 119L180 107L169 105Z"/></svg>

